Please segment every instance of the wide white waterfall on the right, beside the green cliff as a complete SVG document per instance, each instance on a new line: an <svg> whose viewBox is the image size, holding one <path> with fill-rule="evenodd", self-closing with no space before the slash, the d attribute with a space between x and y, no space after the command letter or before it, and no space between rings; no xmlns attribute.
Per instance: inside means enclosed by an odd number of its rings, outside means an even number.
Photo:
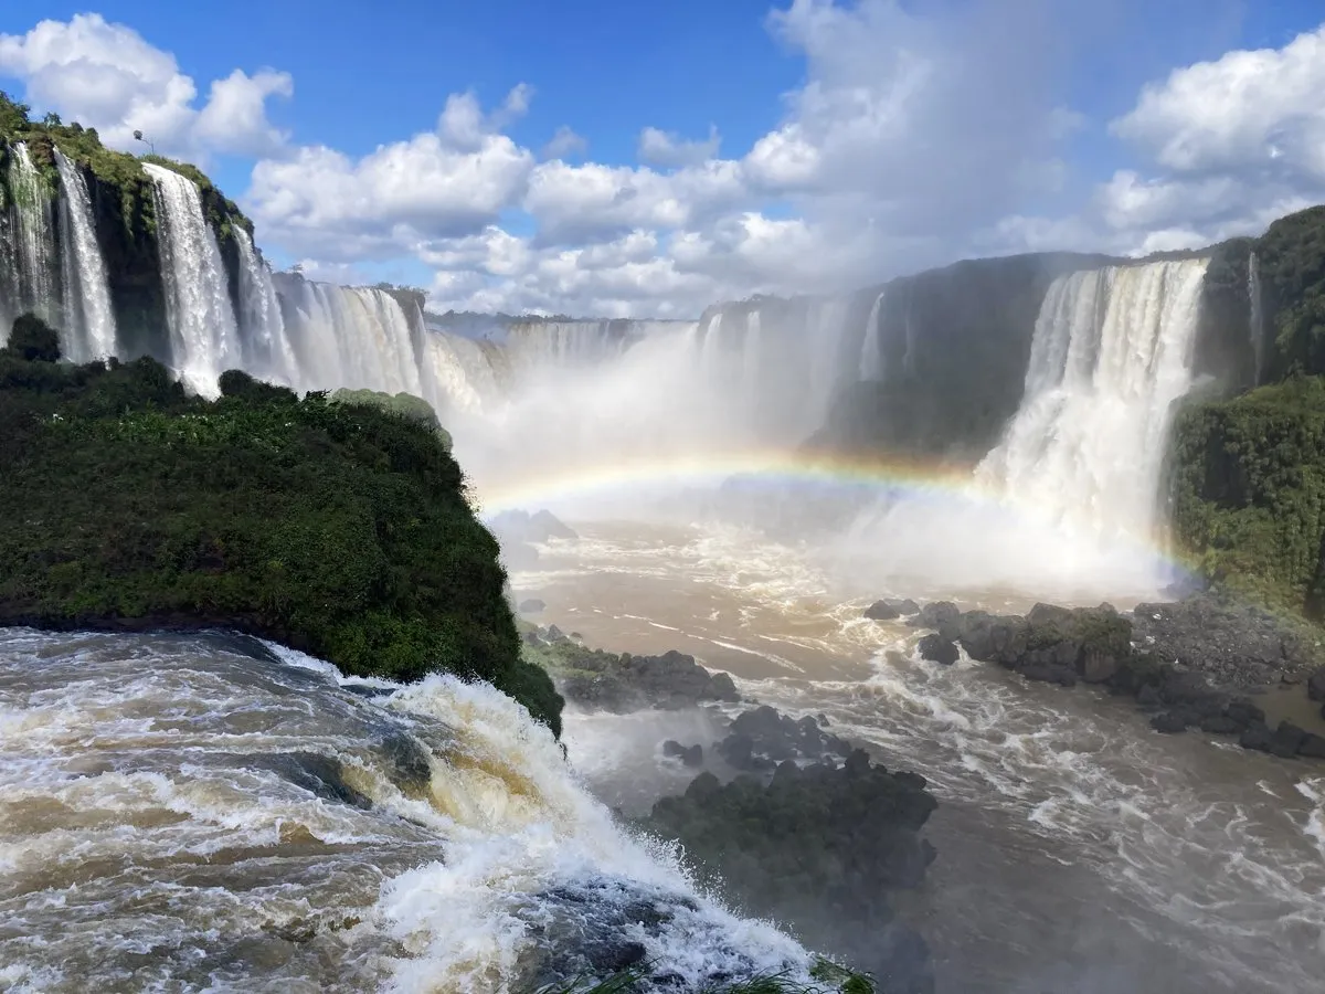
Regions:
<svg viewBox="0 0 1325 994"><path fill-rule="evenodd" d="M1022 407L977 480L1060 518L1149 535L1173 404L1192 382L1206 265L1055 280L1035 323Z"/></svg>

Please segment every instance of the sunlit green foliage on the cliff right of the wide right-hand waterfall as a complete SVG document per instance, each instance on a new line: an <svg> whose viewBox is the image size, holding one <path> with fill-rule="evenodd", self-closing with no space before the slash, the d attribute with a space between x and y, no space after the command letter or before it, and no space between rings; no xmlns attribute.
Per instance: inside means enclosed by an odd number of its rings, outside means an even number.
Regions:
<svg viewBox="0 0 1325 994"><path fill-rule="evenodd" d="M1174 531L1215 579L1320 615L1325 379L1293 378L1183 411Z"/></svg>

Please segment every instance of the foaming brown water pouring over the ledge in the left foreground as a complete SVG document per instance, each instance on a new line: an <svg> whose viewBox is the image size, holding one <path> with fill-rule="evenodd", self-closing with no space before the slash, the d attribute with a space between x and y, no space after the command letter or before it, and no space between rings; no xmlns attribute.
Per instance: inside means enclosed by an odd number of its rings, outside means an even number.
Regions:
<svg viewBox="0 0 1325 994"><path fill-rule="evenodd" d="M224 636L0 632L0 867L16 994L496 994L623 941L694 985L808 966L502 694Z"/></svg>

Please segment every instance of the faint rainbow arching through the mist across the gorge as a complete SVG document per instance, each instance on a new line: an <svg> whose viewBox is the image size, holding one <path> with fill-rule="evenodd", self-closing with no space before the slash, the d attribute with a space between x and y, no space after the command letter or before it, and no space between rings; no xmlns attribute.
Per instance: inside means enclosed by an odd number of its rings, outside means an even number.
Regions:
<svg viewBox="0 0 1325 994"><path fill-rule="evenodd" d="M973 470L970 463L935 459L743 449L572 465L506 482L477 481L474 493L485 518L505 510L537 510L558 502L624 494L641 486L698 489L734 481L770 492L798 486L865 489L878 497L977 506L998 510L1010 520L1047 521L1034 501L1012 502L999 488L979 482ZM1182 571L1195 569L1194 561L1175 555L1159 537L1133 533L1118 535L1117 541L1151 561Z"/></svg>

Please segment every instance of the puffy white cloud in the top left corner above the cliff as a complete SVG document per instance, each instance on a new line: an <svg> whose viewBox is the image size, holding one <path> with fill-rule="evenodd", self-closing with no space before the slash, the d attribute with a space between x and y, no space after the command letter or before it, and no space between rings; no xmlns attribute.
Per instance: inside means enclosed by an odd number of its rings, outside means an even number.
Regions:
<svg viewBox="0 0 1325 994"><path fill-rule="evenodd" d="M113 147L132 148L140 130L159 151L191 158L274 154L286 135L266 119L266 101L294 91L286 73L235 70L199 107L197 86L174 56L95 13L0 34L0 76L21 80L38 110L95 127Z"/></svg>

